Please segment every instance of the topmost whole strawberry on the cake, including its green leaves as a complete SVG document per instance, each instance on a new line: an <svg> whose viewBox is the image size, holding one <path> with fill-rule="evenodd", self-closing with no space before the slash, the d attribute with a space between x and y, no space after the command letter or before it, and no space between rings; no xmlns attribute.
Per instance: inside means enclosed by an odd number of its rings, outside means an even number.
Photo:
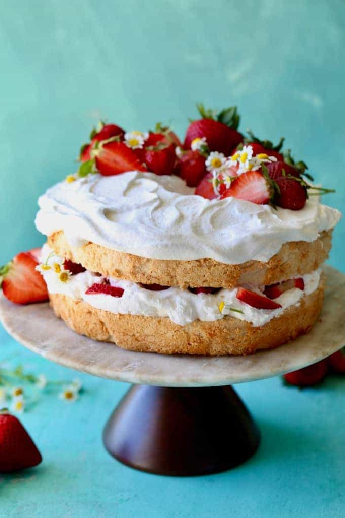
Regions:
<svg viewBox="0 0 345 518"><path fill-rule="evenodd" d="M225 155L230 154L239 142L243 141L243 135L237 131L240 117L237 108L232 106L215 113L207 110L202 104L197 105L202 119L193 121L187 129L184 147L191 148L191 143L198 137L206 137L210 151L220 151Z"/></svg>

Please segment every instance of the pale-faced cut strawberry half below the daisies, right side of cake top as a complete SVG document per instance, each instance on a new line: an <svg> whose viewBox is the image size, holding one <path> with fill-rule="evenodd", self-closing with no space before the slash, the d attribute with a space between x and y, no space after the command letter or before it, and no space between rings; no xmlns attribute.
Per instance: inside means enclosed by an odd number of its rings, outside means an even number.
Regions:
<svg viewBox="0 0 345 518"><path fill-rule="evenodd" d="M272 196L272 187L261 171L247 171L238 176L220 199L234 196L248 202L266 204Z"/></svg>

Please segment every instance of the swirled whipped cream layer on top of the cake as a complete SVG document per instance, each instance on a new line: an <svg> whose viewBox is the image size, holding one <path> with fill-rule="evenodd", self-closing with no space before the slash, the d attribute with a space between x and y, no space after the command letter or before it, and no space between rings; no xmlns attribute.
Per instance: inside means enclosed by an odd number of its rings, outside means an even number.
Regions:
<svg viewBox="0 0 345 518"><path fill-rule="evenodd" d="M293 211L193 192L176 176L88 175L40 196L36 226L47 236L64 231L71 246L91 241L151 259L240 264L268 261L289 241L314 241L341 217L318 196Z"/></svg>

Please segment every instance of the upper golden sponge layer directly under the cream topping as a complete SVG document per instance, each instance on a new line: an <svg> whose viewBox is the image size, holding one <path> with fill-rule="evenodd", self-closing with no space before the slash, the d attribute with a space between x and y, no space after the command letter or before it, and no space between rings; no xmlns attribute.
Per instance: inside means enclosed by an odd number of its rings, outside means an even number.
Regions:
<svg viewBox="0 0 345 518"><path fill-rule="evenodd" d="M58 255L81 263L86 269L106 277L163 286L232 288L245 284L273 284L316 270L327 259L331 250L332 230L322 232L318 239L310 243L284 243L280 251L267 262L247 261L238 265L219 263L213 259L147 259L116 252L95 243L77 248L69 245L62 231L49 236L48 244Z"/></svg>

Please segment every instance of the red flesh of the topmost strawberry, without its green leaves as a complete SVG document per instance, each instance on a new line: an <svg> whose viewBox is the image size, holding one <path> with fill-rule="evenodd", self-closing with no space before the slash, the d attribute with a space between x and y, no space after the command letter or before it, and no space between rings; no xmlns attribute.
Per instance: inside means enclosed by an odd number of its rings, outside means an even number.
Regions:
<svg viewBox="0 0 345 518"><path fill-rule="evenodd" d="M212 119L192 122L187 129L184 147L189 149L194 138L206 137L210 151L229 155L230 151L243 141L243 135L225 124Z"/></svg>

